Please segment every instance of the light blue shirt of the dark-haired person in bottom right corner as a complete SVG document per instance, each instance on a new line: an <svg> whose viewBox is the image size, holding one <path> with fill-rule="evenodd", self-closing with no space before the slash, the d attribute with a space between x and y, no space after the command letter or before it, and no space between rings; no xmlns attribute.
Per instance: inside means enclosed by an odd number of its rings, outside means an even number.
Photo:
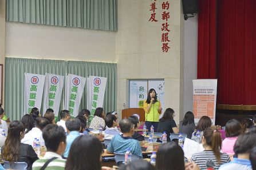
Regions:
<svg viewBox="0 0 256 170"><path fill-rule="evenodd" d="M230 163L223 164L219 167L220 170L239 169L239 170L251 170L251 161L248 159L238 159L234 157L234 160Z"/></svg>

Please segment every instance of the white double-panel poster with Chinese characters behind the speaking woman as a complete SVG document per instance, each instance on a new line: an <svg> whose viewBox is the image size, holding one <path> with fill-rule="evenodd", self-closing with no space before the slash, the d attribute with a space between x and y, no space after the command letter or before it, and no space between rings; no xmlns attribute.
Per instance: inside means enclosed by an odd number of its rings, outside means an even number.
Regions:
<svg viewBox="0 0 256 170"><path fill-rule="evenodd" d="M149 89L155 89L157 100L164 109L164 80L129 80L129 108L143 108Z"/></svg>

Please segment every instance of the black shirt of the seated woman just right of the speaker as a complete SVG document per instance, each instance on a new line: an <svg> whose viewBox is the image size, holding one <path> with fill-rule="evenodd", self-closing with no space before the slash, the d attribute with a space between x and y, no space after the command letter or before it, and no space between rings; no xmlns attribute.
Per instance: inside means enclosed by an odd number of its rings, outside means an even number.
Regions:
<svg viewBox="0 0 256 170"><path fill-rule="evenodd" d="M170 141L170 133L174 133L172 128L177 127L175 121L173 119L161 121L157 125L157 132L163 133L166 132L167 134L167 141Z"/></svg>

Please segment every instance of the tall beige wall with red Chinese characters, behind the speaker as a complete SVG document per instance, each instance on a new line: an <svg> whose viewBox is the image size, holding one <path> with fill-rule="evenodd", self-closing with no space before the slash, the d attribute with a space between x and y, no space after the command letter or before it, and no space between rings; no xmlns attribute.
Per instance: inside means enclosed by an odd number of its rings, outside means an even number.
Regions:
<svg viewBox="0 0 256 170"><path fill-rule="evenodd" d="M120 0L116 35L117 110L128 104L127 79L165 80L165 107L175 110L176 123L183 117L183 15L180 0L169 1L170 50L161 51L162 2L157 3L159 22L148 22L153 1Z"/></svg>

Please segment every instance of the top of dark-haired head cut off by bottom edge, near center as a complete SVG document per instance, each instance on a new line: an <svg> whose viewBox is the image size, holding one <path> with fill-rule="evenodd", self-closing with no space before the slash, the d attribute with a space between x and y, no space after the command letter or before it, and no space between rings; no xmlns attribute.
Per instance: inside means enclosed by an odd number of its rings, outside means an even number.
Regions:
<svg viewBox="0 0 256 170"><path fill-rule="evenodd" d="M119 170L155 170L156 168L145 160L131 161L127 165L121 165ZM168 168L170 169L170 167Z"/></svg>

